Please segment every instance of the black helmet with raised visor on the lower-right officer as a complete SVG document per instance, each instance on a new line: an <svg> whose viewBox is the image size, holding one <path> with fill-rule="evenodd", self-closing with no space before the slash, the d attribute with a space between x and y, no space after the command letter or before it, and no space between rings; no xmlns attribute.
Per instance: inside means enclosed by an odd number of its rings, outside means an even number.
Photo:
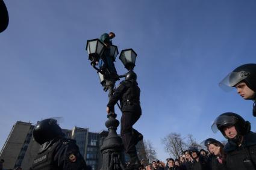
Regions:
<svg viewBox="0 0 256 170"><path fill-rule="evenodd" d="M211 130L213 130L214 133L220 130L222 135L228 139L223 129L231 126L236 128L237 134L240 136L246 135L251 130L251 123L249 123L249 121L245 121L240 115L232 112L219 115L211 126Z"/></svg>

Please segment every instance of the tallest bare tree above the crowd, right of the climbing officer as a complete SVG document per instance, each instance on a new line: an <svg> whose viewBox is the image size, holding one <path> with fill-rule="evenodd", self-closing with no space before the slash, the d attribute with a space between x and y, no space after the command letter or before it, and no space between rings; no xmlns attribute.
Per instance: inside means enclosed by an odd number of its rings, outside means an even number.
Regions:
<svg viewBox="0 0 256 170"><path fill-rule="evenodd" d="M183 154L186 144L184 138L178 133L170 133L162 139L164 150L169 153L170 157L180 157Z"/></svg>

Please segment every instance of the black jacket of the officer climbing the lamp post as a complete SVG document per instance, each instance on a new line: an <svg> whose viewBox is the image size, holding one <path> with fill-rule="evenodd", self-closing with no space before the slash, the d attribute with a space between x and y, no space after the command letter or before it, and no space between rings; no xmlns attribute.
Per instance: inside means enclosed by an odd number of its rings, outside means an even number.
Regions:
<svg viewBox="0 0 256 170"><path fill-rule="evenodd" d="M142 114L140 108L140 88L136 80L123 80L120 82L113 96L107 106L111 111L114 109L114 105L120 100L122 112L137 112Z"/></svg>

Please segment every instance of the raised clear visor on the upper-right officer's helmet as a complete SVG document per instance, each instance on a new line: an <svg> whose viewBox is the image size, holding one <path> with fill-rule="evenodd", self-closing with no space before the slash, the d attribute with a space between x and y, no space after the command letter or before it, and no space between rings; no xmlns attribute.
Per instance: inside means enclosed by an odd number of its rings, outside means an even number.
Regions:
<svg viewBox="0 0 256 170"><path fill-rule="evenodd" d="M219 86L224 91L231 91L231 87L234 87L237 83L246 79L248 76L249 73L246 71L231 72L219 83Z"/></svg>

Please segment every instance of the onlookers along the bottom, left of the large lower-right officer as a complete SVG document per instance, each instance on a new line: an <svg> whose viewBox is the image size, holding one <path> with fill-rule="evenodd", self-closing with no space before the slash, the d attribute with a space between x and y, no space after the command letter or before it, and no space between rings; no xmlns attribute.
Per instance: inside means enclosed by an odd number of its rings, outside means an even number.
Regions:
<svg viewBox="0 0 256 170"><path fill-rule="evenodd" d="M192 169L224 169L222 164L223 144L215 139L210 139L208 151L204 149L189 148L183 155L166 159L166 163L154 160L149 165L142 160L142 169L146 170L192 170ZM208 141L208 140L207 140ZM209 141L208 141L209 142ZM205 143L206 144L206 143ZM218 162L217 162L218 161Z"/></svg>

